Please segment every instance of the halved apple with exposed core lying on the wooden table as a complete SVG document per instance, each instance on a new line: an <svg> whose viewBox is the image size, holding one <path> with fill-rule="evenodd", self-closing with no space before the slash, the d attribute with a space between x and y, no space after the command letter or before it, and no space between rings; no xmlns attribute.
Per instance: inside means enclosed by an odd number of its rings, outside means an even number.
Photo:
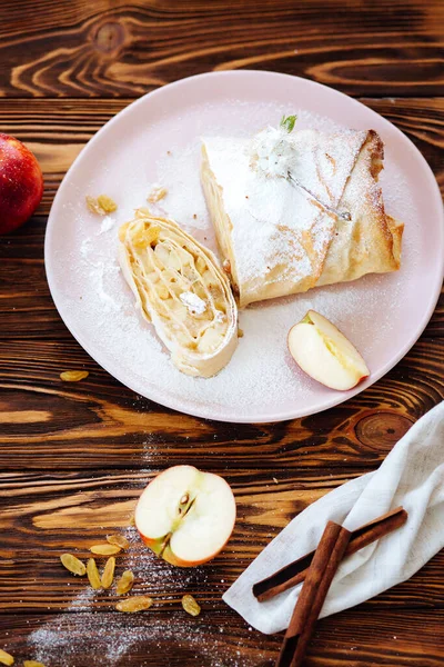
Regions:
<svg viewBox="0 0 444 667"><path fill-rule="evenodd" d="M173 466L154 477L142 492L135 526L159 557L192 567L223 549L235 514L233 491L222 477L193 466Z"/></svg>

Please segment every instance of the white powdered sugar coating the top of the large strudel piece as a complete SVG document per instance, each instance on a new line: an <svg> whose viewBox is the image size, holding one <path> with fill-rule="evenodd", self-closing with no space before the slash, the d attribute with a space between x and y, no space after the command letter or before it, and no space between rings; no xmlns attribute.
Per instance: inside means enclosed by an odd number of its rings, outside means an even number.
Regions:
<svg viewBox="0 0 444 667"><path fill-rule="evenodd" d="M282 136L282 130L274 132ZM209 168L232 225L230 245L241 303L269 296L268 286L273 282L278 283L274 293L290 291L289 285L306 289L307 278L317 275L336 223L307 192L335 209L366 138L365 131L351 130L323 136L319 130L286 132L285 145L292 150L284 156L284 170L291 173L290 181L252 168L251 145L258 150L263 133L253 140L203 139ZM278 141L274 133L272 140ZM313 237L309 248L306 238Z"/></svg>

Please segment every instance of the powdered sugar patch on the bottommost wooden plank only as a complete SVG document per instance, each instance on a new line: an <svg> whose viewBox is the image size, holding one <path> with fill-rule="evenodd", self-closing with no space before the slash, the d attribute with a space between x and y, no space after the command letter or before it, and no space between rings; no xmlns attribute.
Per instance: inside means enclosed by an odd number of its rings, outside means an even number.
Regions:
<svg viewBox="0 0 444 667"><path fill-rule="evenodd" d="M184 613L169 610L169 619L160 619L159 609L123 615L64 614L32 633L29 648L33 659L46 665L60 667L84 667L92 661L92 656L101 656L107 667L128 667L131 657L141 651L159 656L159 665L168 665L165 660L181 651L196 666L205 667L255 667L258 651L248 655L242 651L243 640L239 644L230 637L226 643L223 628L216 627L218 617L212 623L203 621L203 617L191 619ZM218 636L219 635L219 636ZM254 637L251 639L254 641ZM259 641L259 634L255 639ZM244 654L244 655L241 655ZM253 651L252 651L253 653ZM263 651L263 658L272 658L272 651ZM85 663L87 660L87 663ZM151 661L153 665L154 663Z"/></svg>

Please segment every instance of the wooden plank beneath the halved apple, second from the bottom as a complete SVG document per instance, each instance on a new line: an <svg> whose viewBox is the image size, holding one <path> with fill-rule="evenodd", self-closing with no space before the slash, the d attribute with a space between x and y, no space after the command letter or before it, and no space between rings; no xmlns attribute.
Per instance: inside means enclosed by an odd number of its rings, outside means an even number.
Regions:
<svg viewBox="0 0 444 667"><path fill-rule="evenodd" d="M59 556L69 551L87 559L92 545L103 542L107 534L115 531L124 531L131 542L128 552L117 557L117 570L133 570L134 594L148 593L159 604L169 606L171 599L180 600L190 593L223 611L222 593L270 539L297 512L347 479L342 472L300 478L294 474L283 477L280 471L275 484L269 474L256 474L252 480L245 470L216 466L208 469L224 475L232 485L238 520L228 548L212 563L192 569L174 568L159 560L130 526L137 499L154 471L2 475L0 498L8 498L8 507L0 516L0 614L69 609L88 581L72 577L61 566ZM98 563L103 561L98 557ZM360 608L442 607L443 566L444 552L411 580ZM94 606L100 610L112 609L118 600L112 590L95 597Z"/></svg>

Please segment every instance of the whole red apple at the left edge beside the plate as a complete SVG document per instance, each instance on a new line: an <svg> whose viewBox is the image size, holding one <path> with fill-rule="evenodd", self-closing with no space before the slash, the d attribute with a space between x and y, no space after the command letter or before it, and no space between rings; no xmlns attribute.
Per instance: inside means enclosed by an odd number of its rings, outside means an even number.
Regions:
<svg viewBox="0 0 444 667"><path fill-rule="evenodd" d="M43 195L43 176L34 155L18 139L0 132L0 233L28 220Z"/></svg>

